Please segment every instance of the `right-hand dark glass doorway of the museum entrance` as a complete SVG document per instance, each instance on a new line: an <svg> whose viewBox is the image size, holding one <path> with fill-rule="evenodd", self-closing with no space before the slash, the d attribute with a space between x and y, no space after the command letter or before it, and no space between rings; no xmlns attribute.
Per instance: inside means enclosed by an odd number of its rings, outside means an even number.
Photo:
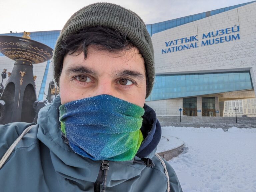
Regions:
<svg viewBox="0 0 256 192"><path fill-rule="evenodd" d="M207 117L215 117L215 98L202 97L202 115Z"/></svg>

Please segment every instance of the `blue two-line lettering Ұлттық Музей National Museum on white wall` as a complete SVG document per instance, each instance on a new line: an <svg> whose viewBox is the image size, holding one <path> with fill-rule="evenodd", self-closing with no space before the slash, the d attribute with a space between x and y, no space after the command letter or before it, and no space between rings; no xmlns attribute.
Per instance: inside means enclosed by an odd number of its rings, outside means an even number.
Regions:
<svg viewBox="0 0 256 192"><path fill-rule="evenodd" d="M201 43L198 42L198 35L166 41L165 46L167 48L162 49L162 54L234 41L240 39L239 31L239 25L235 25L234 27L203 33Z"/></svg>

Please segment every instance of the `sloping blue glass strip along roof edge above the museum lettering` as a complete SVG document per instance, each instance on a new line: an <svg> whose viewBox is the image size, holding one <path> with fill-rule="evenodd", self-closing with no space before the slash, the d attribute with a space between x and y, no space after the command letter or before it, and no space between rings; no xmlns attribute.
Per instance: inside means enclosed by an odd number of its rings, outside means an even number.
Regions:
<svg viewBox="0 0 256 192"><path fill-rule="evenodd" d="M247 3L243 3L243 4L239 4L239 5L234 5L234 6L230 6L230 7L225 7L225 8L221 8L221 9L216 9L213 11L210 11L210 15L208 16L212 16L212 15L216 15L218 13L222 13L225 11L229 11L231 9L235 9L237 7L241 7L244 5L247 5L249 3L253 3L255 1L252 2L247 2ZM147 30L149 32L149 34L152 36L155 33L167 30L167 29L171 29L173 27L177 27L186 23L190 23L199 19L203 19L206 17L206 12L204 13L198 13L195 15L190 15L190 16L186 16L186 17L181 17L178 19L172 19L172 20L168 20L168 21L163 21L163 22L159 22L159 23L154 23L154 24L148 24L146 25Z"/></svg>

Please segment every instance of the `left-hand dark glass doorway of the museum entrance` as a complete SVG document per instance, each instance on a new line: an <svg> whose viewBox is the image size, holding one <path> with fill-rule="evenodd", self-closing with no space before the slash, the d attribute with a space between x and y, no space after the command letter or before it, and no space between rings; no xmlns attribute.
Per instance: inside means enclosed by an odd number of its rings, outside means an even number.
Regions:
<svg viewBox="0 0 256 192"><path fill-rule="evenodd" d="M196 97L183 98L183 115L197 116Z"/></svg>

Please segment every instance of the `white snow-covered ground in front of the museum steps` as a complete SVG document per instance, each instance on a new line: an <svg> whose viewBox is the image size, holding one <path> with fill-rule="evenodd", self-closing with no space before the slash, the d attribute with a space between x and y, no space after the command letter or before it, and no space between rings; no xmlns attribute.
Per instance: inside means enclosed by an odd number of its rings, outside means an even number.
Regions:
<svg viewBox="0 0 256 192"><path fill-rule="evenodd" d="M256 128L163 127L162 135L185 142L168 161L183 192L256 192Z"/></svg>

